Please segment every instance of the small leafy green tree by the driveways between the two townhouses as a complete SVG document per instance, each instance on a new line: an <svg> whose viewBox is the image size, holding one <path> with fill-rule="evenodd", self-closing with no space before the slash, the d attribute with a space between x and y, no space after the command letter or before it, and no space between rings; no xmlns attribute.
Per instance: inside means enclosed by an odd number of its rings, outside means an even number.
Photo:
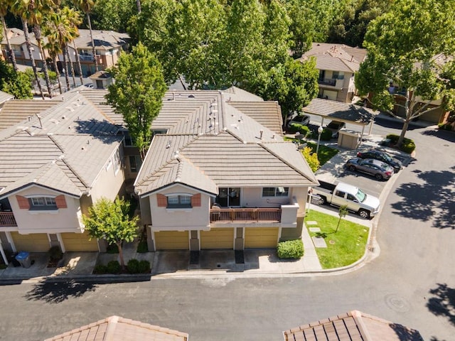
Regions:
<svg viewBox="0 0 455 341"><path fill-rule="evenodd" d="M130 217L129 202L102 198L82 215L82 222L91 238L105 239L107 244L117 245L122 270L125 270L122 242L132 242L137 237L139 217Z"/></svg>

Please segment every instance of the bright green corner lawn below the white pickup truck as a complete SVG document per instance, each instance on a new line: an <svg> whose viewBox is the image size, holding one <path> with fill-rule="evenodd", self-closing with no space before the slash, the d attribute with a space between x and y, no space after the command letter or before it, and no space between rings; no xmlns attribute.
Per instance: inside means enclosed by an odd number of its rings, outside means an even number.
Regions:
<svg viewBox="0 0 455 341"><path fill-rule="evenodd" d="M358 261L365 253L368 242L368 227L347 220L341 220L338 232L335 233L339 217L325 215L321 212L310 210L305 217L305 222L316 221L321 232L309 232L311 237L323 237L327 248L316 248L322 269L333 269L347 266Z"/></svg>

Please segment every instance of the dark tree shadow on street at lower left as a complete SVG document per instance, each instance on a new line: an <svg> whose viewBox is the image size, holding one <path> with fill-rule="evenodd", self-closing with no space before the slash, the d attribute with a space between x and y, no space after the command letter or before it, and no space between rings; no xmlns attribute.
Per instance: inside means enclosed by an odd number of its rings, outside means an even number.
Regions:
<svg viewBox="0 0 455 341"><path fill-rule="evenodd" d="M28 301L45 301L46 303L61 303L68 298L83 296L87 291L95 291L97 286L94 283L80 283L70 281L42 281L33 286L31 291L26 293Z"/></svg>

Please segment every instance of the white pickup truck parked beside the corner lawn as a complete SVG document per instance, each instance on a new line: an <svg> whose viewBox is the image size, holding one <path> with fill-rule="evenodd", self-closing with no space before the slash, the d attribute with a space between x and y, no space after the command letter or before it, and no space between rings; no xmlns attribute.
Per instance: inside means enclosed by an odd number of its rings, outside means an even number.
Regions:
<svg viewBox="0 0 455 341"><path fill-rule="evenodd" d="M358 213L360 217L372 218L378 214L380 202L377 197L363 193L363 190L347 183L326 183L319 180L318 187L313 188L313 200L319 205L348 205L348 210Z"/></svg>

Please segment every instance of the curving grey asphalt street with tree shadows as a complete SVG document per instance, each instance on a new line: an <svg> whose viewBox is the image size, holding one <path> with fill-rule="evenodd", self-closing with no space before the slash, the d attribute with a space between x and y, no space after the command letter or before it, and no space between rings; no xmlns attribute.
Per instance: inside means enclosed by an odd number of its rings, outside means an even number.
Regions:
<svg viewBox="0 0 455 341"><path fill-rule="evenodd" d="M416 160L383 204L379 256L360 269L1 286L0 340L43 340L109 315L188 332L193 341L283 340L283 330L353 309L415 328L424 340L455 340L455 134L412 129L407 136Z"/></svg>

